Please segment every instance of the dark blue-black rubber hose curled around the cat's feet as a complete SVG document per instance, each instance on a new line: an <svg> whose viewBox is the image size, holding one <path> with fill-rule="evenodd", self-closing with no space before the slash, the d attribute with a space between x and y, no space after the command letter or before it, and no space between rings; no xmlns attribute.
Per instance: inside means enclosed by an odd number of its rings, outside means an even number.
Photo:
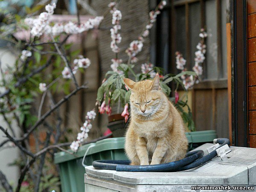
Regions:
<svg viewBox="0 0 256 192"><path fill-rule="evenodd" d="M216 143L230 145L230 141L226 138L218 138ZM96 169L116 170L118 172L179 172L207 163L209 160L217 156L216 150L204 156L204 151L191 151L186 154L184 159L163 163L159 165L131 166L129 160L96 160L93 161L93 167Z"/></svg>

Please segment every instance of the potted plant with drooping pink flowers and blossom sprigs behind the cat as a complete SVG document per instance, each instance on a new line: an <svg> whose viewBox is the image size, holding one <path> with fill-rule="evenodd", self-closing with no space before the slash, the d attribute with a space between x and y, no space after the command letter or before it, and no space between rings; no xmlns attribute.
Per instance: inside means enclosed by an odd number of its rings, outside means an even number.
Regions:
<svg viewBox="0 0 256 192"><path fill-rule="evenodd" d="M166 1L161 1L154 11L149 13L149 20L145 23L145 28L140 34L137 40L132 41L126 53L128 56L127 62L122 62L122 59L119 59L119 47L118 44L121 42L122 37L119 33L121 29L120 21L122 20L122 14L119 10L116 9L116 3L109 5L112 11L112 24L111 28L111 49L114 52L115 57L111 60L111 70L105 74L105 79L102 81L102 85L98 89L97 93L97 102L96 105L99 106L99 113L107 113L108 116L108 128L113 132L113 137L123 137L125 133L125 126L128 123L128 102L130 99L131 92L128 90L128 87L125 86L123 79L132 78L134 81L143 81L145 79L154 78L156 74L160 75L160 85L164 93L167 96L170 96L171 89L168 84L171 81L175 81L177 87L181 85L184 90L188 89L194 81L197 81L197 73L192 71L183 70L177 75L167 74L163 76L163 69L160 67L154 67L153 64L142 64L141 73L134 72L134 65L138 62L136 55L143 48L143 41L148 36L149 30L153 26L153 23L156 21L157 15L160 14L160 10L163 9L163 6L166 5ZM185 62L184 62L185 61ZM186 60L180 58L180 65L186 63ZM183 63L182 63L183 62ZM184 79L180 79L184 77ZM182 109L186 102L182 102L184 96L178 102L177 98L177 88L175 90L175 103L180 106ZM188 106L188 105L187 105ZM123 110L122 110L123 109ZM189 113L182 112L183 116L186 117L187 122L189 122L190 129L193 131L192 118Z"/></svg>

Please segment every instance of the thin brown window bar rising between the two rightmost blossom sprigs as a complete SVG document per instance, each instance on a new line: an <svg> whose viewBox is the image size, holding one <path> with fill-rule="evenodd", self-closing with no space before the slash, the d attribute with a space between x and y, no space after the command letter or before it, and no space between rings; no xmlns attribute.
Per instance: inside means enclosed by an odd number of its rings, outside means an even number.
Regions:
<svg viewBox="0 0 256 192"><path fill-rule="evenodd" d="M189 34L190 34L190 23L189 23L189 3L185 4L185 22L186 22L186 57L187 59L187 69L191 70L191 62L190 62L190 55L191 55L191 51L190 51L190 38L189 38Z"/></svg>

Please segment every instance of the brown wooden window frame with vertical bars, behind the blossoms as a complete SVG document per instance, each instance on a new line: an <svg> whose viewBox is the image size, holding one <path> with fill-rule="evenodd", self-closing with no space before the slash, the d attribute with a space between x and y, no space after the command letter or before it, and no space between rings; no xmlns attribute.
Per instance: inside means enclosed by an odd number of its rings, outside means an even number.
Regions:
<svg viewBox="0 0 256 192"><path fill-rule="evenodd" d="M193 54L190 51L190 37L189 37L189 27L190 27L190 20L189 20L189 4L199 2L201 6L201 28L204 28L206 25L206 15L205 15L205 1L206 0L170 0L170 8L171 8L171 41L175 39L175 25L176 25L176 19L175 19L175 8L178 6L185 6L185 20L186 20L186 58L191 58L191 54ZM221 0L215 0L216 4L216 22L217 22L217 79L204 79L204 77L207 76L207 61L204 61L202 64L203 67L203 75L202 75L202 81L199 84L194 85L194 89L205 89L207 88L206 85L209 85L209 89L211 88L218 88L223 87L227 88L227 77L224 77L223 72L223 66L222 66L222 44L225 42L222 42L221 39ZM199 30L198 30L199 32ZM175 63L175 41L172 41L171 43L171 62ZM190 61L190 59L187 59L186 67L188 69L192 69L193 63ZM175 73L177 72L176 65L171 66L172 69L171 72ZM211 83L214 82L214 83Z"/></svg>

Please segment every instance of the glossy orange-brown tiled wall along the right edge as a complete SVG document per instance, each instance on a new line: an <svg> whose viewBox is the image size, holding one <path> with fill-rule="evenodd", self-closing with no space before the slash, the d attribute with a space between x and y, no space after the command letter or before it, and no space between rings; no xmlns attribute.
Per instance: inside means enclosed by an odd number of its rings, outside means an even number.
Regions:
<svg viewBox="0 0 256 192"><path fill-rule="evenodd" d="M256 148L256 1L247 1L247 91L249 147Z"/></svg>

